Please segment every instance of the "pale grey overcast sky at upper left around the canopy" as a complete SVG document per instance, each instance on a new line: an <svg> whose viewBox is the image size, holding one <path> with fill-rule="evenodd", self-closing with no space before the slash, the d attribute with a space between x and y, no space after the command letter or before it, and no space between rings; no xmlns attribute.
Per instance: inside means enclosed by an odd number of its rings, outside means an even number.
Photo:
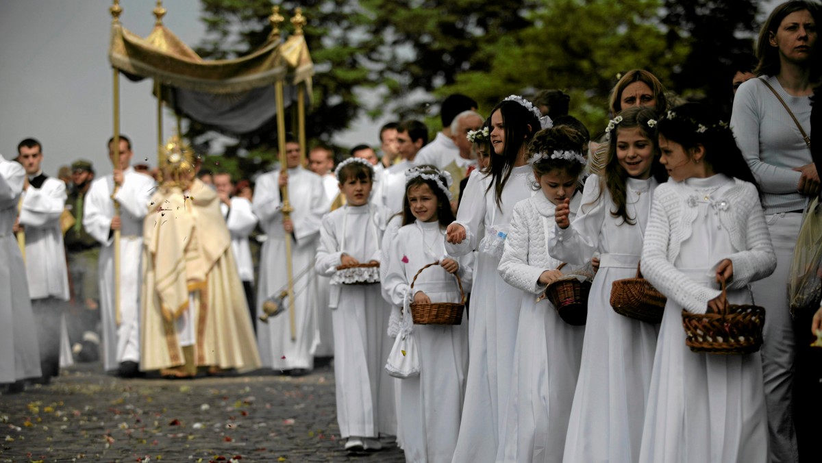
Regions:
<svg viewBox="0 0 822 463"><path fill-rule="evenodd" d="M44 172L85 158L99 173L111 172L105 142L113 133L112 69L109 64L109 0L0 0L0 154L17 155L17 144L43 144ZM121 0L120 21L149 35L155 17L150 0ZM199 0L167 0L164 24L187 44L205 36ZM290 16L285 13L284 16ZM151 81L120 78L121 132L132 138L135 160L156 164L156 100ZM377 126L378 127L378 126ZM164 114L164 137L174 129ZM339 142L376 143L373 124L355 124Z"/></svg>

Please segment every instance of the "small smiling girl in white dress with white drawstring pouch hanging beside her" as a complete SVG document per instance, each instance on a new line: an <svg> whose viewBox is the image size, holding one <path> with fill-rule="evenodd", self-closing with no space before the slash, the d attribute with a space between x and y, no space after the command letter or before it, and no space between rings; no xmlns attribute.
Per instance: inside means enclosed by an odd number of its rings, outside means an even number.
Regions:
<svg viewBox="0 0 822 463"><path fill-rule="evenodd" d="M389 269L382 285L392 302L458 302L459 287L451 274L459 272L470 285L472 255L446 255L445 229L454 220L450 209L450 175L433 166L405 174L403 227L390 247ZM417 272L432 262L439 266ZM407 307L407 305L406 305ZM447 463L454 456L468 370L468 323L414 325L419 376L399 380L399 419L405 460Z"/></svg>

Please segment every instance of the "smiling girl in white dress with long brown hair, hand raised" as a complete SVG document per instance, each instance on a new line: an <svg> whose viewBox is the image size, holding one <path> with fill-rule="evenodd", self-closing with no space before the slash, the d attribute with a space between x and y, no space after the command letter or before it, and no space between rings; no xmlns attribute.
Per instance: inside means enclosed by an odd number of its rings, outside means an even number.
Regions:
<svg viewBox="0 0 822 463"><path fill-rule="evenodd" d="M614 118L607 129L604 174L586 180L574 223L568 201L556 206L551 256L579 265L600 254L588 300L566 463L639 458L658 326L615 313L610 300L614 280L636 275L651 196L666 177L655 147L655 118L653 109L643 107L625 109Z"/></svg>

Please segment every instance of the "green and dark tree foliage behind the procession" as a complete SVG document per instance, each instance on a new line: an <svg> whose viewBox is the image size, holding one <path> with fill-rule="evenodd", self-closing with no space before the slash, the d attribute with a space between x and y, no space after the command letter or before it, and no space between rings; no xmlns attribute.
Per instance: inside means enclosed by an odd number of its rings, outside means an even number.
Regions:
<svg viewBox="0 0 822 463"><path fill-rule="evenodd" d="M201 56L234 58L265 41L269 0L202 4ZM283 2L281 12L298 6L317 69L307 137L321 141L362 111L427 117L436 130L436 100L450 93L487 112L506 95L543 88L570 94L571 113L597 132L617 76L634 68L722 105L732 56L750 51L757 13L751 0L307 0ZM270 125L244 137L227 157L251 154L224 162L246 175L264 169L274 133Z"/></svg>

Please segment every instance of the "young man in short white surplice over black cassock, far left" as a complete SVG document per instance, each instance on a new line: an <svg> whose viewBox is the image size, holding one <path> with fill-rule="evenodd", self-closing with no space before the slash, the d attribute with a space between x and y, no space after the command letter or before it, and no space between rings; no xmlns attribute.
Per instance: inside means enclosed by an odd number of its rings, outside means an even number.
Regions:
<svg viewBox="0 0 822 463"><path fill-rule="evenodd" d="M25 272L29 280L31 309L35 314L40 351L40 382L48 384L60 374L60 340L63 333L62 303L69 298L66 251L62 243L60 215L66 206L66 183L47 177L40 164L43 148L26 138L17 146L17 160L25 169L19 223L25 233Z"/></svg>

